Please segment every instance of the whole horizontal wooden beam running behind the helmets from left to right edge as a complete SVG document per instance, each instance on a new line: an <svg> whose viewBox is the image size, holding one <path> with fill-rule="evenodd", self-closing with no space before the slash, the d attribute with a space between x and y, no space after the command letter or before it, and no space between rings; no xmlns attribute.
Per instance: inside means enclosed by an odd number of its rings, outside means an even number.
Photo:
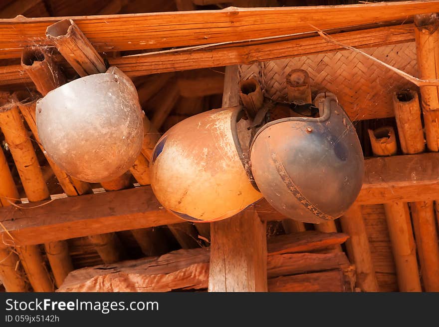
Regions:
<svg viewBox="0 0 439 327"><path fill-rule="evenodd" d="M365 163L364 184L357 204L438 197L439 177L435 170L439 166L438 153L371 158ZM40 204L44 205L29 208ZM183 222L161 207L149 186L20 206L26 209L0 208L0 222L19 244L87 236L90 230L109 233ZM254 207L264 220L285 219L263 200ZM3 231L0 234L7 238Z"/></svg>

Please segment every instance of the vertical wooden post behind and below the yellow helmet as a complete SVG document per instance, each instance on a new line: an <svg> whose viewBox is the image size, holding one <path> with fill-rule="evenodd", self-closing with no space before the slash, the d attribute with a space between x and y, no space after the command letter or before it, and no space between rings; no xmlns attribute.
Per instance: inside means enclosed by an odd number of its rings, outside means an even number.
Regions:
<svg viewBox="0 0 439 327"><path fill-rule="evenodd" d="M237 66L225 67L222 107L238 103ZM210 292L267 291L266 224L254 206L211 223Z"/></svg>

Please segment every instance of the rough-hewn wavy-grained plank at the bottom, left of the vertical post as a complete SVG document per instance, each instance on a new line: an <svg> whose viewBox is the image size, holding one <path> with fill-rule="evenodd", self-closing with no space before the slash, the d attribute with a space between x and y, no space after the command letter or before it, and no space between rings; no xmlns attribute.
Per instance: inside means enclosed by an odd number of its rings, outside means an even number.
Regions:
<svg viewBox="0 0 439 327"><path fill-rule="evenodd" d="M201 248L181 249L161 257L75 270L57 292L169 292L206 289L208 279L209 251Z"/></svg>

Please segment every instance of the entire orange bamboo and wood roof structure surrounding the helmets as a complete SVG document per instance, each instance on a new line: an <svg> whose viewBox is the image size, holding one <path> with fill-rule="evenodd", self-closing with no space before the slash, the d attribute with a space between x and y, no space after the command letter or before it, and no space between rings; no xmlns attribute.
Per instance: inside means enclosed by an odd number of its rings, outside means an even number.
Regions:
<svg viewBox="0 0 439 327"><path fill-rule="evenodd" d="M0 290L439 292L439 0L364 2L2 1ZM122 176L84 182L47 156L36 100L109 66L137 89L142 150ZM288 101L296 69L358 134L349 211L310 224L265 199L212 223L166 210L150 185L160 136L239 104L249 78Z"/></svg>

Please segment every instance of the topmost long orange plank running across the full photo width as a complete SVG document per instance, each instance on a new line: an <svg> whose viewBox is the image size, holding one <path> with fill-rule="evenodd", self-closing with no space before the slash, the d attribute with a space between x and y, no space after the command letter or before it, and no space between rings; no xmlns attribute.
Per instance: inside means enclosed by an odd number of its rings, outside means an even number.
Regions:
<svg viewBox="0 0 439 327"><path fill-rule="evenodd" d="M48 45L45 29L74 19L99 52L166 48L272 37L435 12L438 0L276 8L235 8L105 16L0 20L0 57L18 57L26 45ZM172 31L172 33L171 33Z"/></svg>

